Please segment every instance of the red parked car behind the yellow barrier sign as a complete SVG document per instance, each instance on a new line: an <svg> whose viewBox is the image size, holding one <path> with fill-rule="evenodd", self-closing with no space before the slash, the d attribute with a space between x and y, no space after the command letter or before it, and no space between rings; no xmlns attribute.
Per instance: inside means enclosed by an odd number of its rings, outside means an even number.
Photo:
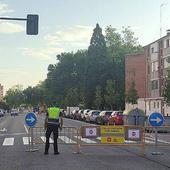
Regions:
<svg viewBox="0 0 170 170"><path fill-rule="evenodd" d="M113 111L109 117L109 125L123 125L123 112Z"/></svg>

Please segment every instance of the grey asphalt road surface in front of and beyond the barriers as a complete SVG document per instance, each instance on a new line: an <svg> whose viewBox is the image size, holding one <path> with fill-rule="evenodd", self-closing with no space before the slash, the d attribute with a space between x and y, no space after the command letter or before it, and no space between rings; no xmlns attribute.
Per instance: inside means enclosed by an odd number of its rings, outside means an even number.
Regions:
<svg viewBox="0 0 170 170"><path fill-rule="evenodd" d="M167 170L170 169L170 145L146 147L146 155L140 156L140 148L117 146L81 147L77 154L75 145L59 144L60 155L44 155L44 144L36 144L36 152L26 152L28 145L25 115L0 118L0 170ZM38 116L38 126L43 126L44 115ZM64 119L64 126L81 127L84 122ZM169 140L166 134L164 140ZM4 142L5 141L5 142ZM5 145L6 144L6 145ZM160 155L154 155L159 152Z"/></svg>

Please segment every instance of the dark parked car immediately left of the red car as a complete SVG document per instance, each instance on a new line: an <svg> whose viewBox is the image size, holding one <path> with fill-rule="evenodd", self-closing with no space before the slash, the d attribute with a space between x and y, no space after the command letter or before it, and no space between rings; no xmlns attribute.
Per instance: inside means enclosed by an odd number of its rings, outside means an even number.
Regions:
<svg viewBox="0 0 170 170"><path fill-rule="evenodd" d="M110 110L104 110L100 112L99 116L96 118L96 123L101 125L107 124L112 112L113 111Z"/></svg>

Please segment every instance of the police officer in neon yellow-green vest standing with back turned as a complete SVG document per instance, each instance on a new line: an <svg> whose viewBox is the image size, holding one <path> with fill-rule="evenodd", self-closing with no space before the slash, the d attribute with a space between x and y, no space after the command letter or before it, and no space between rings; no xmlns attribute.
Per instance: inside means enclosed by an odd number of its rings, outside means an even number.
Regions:
<svg viewBox="0 0 170 170"><path fill-rule="evenodd" d="M47 115L45 119L45 129L46 129L46 143L45 143L45 155L48 155L48 150L50 147L49 139L50 135L53 132L53 138L54 138L54 154L59 154L58 152L58 128L60 130L63 126L63 118L62 113L60 111L60 108L58 107L50 107L47 109Z"/></svg>

